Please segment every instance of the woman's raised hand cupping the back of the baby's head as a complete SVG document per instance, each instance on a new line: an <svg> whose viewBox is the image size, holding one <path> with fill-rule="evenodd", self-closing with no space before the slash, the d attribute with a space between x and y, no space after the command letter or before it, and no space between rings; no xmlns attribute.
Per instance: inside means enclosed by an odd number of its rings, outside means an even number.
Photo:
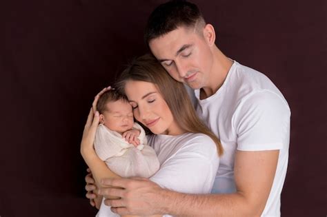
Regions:
<svg viewBox="0 0 327 217"><path fill-rule="evenodd" d="M99 112L93 112L91 108L88 114L88 121L83 131L83 137L81 141L81 155L84 157L88 154L90 149L94 149L93 143L95 142L95 132L97 131L97 126L99 125Z"/></svg>

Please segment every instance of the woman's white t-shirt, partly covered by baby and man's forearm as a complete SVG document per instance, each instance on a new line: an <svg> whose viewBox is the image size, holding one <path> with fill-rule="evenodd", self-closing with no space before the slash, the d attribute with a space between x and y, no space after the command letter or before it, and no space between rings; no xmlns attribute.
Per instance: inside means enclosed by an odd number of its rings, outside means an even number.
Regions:
<svg viewBox="0 0 327 217"><path fill-rule="evenodd" d="M161 187L188 194L209 194L219 166L217 147L205 134L151 135L150 145L160 169L150 180ZM102 207L104 206L104 207ZM101 204L98 217L119 216ZM168 215L164 215L165 217Z"/></svg>

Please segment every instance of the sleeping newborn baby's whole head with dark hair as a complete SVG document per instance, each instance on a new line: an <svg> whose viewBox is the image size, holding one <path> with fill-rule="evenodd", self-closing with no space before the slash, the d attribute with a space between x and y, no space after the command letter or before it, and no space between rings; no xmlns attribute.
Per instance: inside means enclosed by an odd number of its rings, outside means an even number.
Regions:
<svg viewBox="0 0 327 217"><path fill-rule="evenodd" d="M132 129L134 124L132 106L126 96L116 90L108 90L100 96L97 110L100 113L100 123L110 130L122 134Z"/></svg>

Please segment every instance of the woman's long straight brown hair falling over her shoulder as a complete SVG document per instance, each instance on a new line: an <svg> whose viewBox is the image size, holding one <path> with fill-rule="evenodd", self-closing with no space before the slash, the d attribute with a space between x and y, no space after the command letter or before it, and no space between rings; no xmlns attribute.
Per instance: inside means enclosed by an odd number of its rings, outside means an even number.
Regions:
<svg viewBox="0 0 327 217"><path fill-rule="evenodd" d="M117 90L125 94L127 81L146 81L154 83L164 97L172 116L181 129L186 132L202 133L210 136L217 145L218 155L223 154L219 138L199 119L182 83L175 81L151 54L135 59L123 70L117 83Z"/></svg>

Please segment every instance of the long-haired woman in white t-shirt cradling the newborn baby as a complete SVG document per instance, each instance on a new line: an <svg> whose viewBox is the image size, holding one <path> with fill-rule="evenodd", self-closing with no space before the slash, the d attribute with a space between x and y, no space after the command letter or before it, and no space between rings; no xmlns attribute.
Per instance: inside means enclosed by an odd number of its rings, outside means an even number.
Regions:
<svg viewBox="0 0 327 217"><path fill-rule="evenodd" d="M210 193L223 149L215 134L197 117L184 85L146 54L122 72L116 86L128 97L136 120L152 132L148 143L157 153L160 169L150 180L177 192ZM97 158L93 149L98 123L99 114L96 112L93 118L91 110L81 154L99 183L102 178L117 175Z"/></svg>

